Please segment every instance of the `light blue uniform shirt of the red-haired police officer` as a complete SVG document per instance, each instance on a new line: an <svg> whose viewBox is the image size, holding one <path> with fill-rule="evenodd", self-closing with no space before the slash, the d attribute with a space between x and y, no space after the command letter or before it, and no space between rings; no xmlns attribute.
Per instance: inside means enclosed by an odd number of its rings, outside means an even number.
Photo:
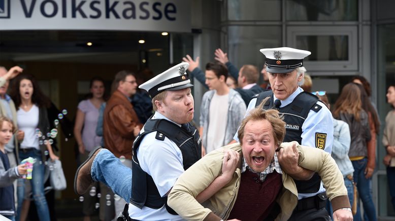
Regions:
<svg viewBox="0 0 395 221"><path fill-rule="evenodd" d="M155 112L152 119L169 120L158 112ZM167 137L162 141L155 136L156 131L144 136L137 150L137 157L141 168L152 176L160 196L164 197L184 172L184 167L180 148ZM140 209L129 203L128 211L129 216L137 220L183 220L179 215L170 214L165 206L160 209L144 206Z"/></svg>

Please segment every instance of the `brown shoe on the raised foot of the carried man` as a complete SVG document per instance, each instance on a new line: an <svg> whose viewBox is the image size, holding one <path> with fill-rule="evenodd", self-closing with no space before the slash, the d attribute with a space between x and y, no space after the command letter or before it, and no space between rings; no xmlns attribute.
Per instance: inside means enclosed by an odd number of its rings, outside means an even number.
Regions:
<svg viewBox="0 0 395 221"><path fill-rule="evenodd" d="M78 195L83 195L94 182L90 170L92 168L93 160L96 155L103 150L101 146L89 153L88 159L78 167L76 176L74 177L74 192Z"/></svg>

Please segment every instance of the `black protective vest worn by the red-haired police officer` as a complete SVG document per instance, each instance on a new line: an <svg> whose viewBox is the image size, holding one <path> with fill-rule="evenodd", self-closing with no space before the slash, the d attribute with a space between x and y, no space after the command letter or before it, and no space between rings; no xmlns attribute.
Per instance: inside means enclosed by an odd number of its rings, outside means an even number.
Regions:
<svg viewBox="0 0 395 221"><path fill-rule="evenodd" d="M137 159L137 150L143 137L156 131L156 139L164 140L168 137L176 143L182 153L184 170L202 158L202 139L199 132L190 123L185 125L188 129L181 127L164 119L148 119L144 125L143 133L139 134L133 143L133 161L131 178L131 199L130 203L139 207L147 206L159 209L166 204L168 212L177 214L167 205L167 197L161 197L152 176L143 171ZM154 147L152 147L154 148Z"/></svg>

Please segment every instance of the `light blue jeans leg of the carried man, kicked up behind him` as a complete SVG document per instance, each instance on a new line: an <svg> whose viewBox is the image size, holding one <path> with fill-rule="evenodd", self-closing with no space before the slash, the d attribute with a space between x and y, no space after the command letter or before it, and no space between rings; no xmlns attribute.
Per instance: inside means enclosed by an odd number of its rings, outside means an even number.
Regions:
<svg viewBox="0 0 395 221"><path fill-rule="evenodd" d="M90 174L94 181L103 182L116 195L126 202L130 201L131 169L124 166L109 150L103 149L96 155Z"/></svg>

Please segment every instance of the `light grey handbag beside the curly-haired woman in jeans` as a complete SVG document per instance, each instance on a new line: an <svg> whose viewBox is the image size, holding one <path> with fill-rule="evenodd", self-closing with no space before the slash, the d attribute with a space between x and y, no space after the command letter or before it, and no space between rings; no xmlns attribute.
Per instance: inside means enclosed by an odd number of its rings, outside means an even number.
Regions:
<svg viewBox="0 0 395 221"><path fill-rule="evenodd" d="M49 168L49 181L54 190L64 190L67 187L66 178L64 177L62 163L60 160L52 161L48 159L47 167Z"/></svg>

